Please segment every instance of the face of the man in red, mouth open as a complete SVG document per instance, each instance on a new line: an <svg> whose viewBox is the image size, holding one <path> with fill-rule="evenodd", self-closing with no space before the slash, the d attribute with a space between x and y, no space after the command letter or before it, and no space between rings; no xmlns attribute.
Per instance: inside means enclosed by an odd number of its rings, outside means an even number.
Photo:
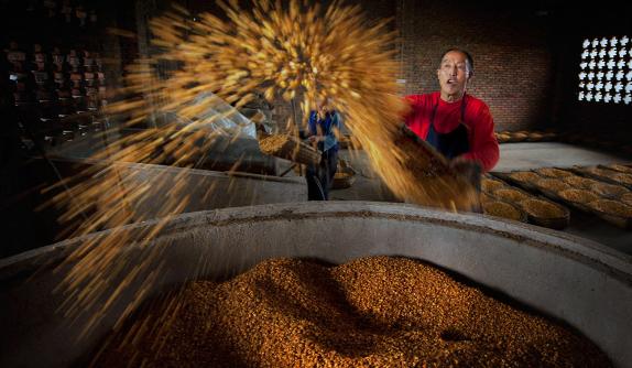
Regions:
<svg viewBox="0 0 632 368"><path fill-rule="evenodd" d="M437 69L437 77L442 97L460 98L469 79L466 55L458 51L447 53Z"/></svg>

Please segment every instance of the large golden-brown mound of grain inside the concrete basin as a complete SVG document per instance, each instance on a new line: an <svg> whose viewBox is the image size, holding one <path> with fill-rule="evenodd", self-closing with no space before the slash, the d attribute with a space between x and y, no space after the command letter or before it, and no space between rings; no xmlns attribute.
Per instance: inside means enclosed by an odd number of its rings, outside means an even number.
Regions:
<svg viewBox="0 0 632 368"><path fill-rule="evenodd" d="M139 331L144 333L138 333ZM264 261L150 305L97 367L610 366L565 327L436 268L374 257Z"/></svg>

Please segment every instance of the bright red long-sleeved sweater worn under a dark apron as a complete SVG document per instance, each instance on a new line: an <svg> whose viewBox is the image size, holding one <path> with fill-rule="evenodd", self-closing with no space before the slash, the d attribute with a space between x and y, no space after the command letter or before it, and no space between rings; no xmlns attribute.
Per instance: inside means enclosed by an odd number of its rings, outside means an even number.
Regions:
<svg viewBox="0 0 632 368"><path fill-rule="evenodd" d="M406 117L406 126L419 138L426 139L431 126L433 108L438 104L435 115L435 130L448 133L459 123L461 118L461 100L446 102L440 99L438 91L426 95L410 95L411 112ZM462 156L478 161L484 171L490 171L499 159L498 141L493 133L493 119L489 107L480 99L467 95L465 125L468 128L470 151Z"/></svg>

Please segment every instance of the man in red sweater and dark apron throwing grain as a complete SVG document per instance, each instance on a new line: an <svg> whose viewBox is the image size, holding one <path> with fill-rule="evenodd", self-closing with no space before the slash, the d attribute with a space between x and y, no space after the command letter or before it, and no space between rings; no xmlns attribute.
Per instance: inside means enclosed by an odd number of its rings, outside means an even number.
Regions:
<svg viewBox="0 0 632 368"><path fill-rule="evenodd" d="M472 75L469 53L450 48L437 69L440 91L406 96L411 104L406 126L466 175L488 172L499 159L489 107L466 94Z"/></svg>

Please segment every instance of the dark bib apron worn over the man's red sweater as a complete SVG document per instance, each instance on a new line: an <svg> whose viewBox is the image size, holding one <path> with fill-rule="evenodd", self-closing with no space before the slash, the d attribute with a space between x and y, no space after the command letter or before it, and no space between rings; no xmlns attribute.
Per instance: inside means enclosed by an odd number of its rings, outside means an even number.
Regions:
<svg viewBox="0 0 632 368"><path fill-rule="evenodd" d="M447 133L439 133L435 130L435 115L437 113L437 108L439 107L438 101L433 109L433 115L431 116L431 127L428 130L428 136L426 137L426 142L437 149L437 151L448 158L448 160L453 160L454 158L459 156L470 150L468 128L465 125L466 106L466 95L464 95L461 100L461 118L459 120L459 125L453 131Z"/></svg>

